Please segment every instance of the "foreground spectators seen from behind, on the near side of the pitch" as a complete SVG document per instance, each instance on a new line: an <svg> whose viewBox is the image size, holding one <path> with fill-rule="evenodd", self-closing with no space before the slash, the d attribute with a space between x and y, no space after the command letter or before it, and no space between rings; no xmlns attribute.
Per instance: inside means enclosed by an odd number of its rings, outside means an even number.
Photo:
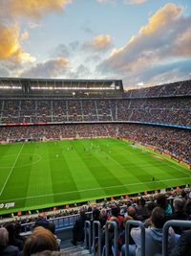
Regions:
<svg viewBox="0 0 191 256"><path fill-rule="evenodd" d="M85 204L82 207L59 210L47 216L38 216L16 221L2 222L0 226L0 255L1 256L31 256L44 250L58 251L60 241L55 235L55 226L52 218L79 213L79 219L73 227L72 244L84 242L85 221L100 221L101 247L105 245L106 221L115 221L118 229L118 249L124 255L125 231L127 221L142 221L146 232L147 256L162 255L162 227L165 221L181 220L191 221L191 190L189 186L184 189L169 189L166 194L153 193L138 195L134 198L120 198ZM88 213L88 215L87 215ZM34 221L33 230L27 238L21 236L21 224ZM97 231L96 231L97 232ZM88 235L91 235L90 233ZM191 253L191 230L173 227L169 229L169 254L171 256L188 256ZM130 255L140 255L140 231L134 226L129 233ZM114 229L109 226L109 244L113 244ZM112 247L110 247L112 248ZM112 251L110 251L110 255Z"/></svg>

